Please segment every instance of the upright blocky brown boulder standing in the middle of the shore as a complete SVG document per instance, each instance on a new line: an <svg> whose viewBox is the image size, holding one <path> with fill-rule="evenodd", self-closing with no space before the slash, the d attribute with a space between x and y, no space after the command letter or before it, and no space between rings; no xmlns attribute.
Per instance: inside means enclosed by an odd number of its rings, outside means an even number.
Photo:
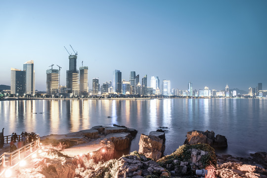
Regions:
<svg viewBox="0 0 267 178"><path fill-rule="evenodd" d="M141 134L139 140L139 153L147 158L158 160L162 157L165 150L163 139L153 136Z"/></svg>

